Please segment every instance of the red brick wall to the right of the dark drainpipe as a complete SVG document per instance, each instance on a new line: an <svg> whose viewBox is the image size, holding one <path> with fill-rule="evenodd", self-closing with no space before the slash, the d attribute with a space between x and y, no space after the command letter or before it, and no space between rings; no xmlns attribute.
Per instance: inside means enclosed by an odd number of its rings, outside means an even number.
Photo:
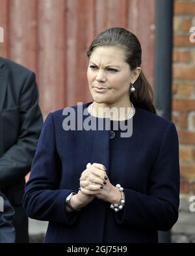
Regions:
<svg viewBox="0 0 195 256"><path fill-rule="evenodd" d="M195 2L174 2L172 120L179 135L181 193L195 193ZM195 39L195 36L194 36Z"/></svg>

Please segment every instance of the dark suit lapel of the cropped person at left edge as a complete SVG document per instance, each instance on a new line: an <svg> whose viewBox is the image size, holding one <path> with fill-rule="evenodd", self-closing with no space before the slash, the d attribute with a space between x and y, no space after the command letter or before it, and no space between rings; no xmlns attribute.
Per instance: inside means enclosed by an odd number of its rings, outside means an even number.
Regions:
<svg viewBox="0 0 195 256"><path fill-rule="evenodd" d="M3 109L7 81L8 70L6 68L3 68L3 63L0 62L0 114Z"/></svg>

